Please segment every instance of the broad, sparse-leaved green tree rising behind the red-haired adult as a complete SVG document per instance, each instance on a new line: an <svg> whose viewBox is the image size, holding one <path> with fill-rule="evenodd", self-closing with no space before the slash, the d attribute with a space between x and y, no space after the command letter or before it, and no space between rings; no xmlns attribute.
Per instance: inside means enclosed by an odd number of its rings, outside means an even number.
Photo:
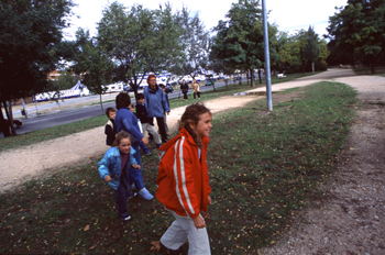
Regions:
<svg viewBox="0 0 385 255"><path fill-rule="evenodd" d="M174 63L180 55L182 30L169 4L160 10L112 3L98 23L98 41L117 68L116 81L130 84L135 96L143 78Z"/></svg>

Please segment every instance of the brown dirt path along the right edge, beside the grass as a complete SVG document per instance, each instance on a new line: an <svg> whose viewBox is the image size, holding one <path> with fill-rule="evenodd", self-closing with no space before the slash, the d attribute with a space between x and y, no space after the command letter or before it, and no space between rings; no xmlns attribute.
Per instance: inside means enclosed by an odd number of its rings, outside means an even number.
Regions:
<svg viewBox="0 0 385 255"><path fill-rule="evenodd" d="M362 107L322 189L276 245L261 254L385 254L385 78L338 78L359 91Z"/></svg>

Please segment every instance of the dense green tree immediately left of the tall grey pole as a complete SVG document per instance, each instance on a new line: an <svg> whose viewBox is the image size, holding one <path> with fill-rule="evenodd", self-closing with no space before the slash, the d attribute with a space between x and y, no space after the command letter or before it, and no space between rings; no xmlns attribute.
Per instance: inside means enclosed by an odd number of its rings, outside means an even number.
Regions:
<svg viewBox="0 0 385 255"><path fill-rule="evenodd" d="M227 21L219 21L215 27L217 36L211 47L212 59L223 59L233 69L251 71L251 86L254 86L254 69L263 66L264 43L262 10L255 0L239 0L232 3ZM271 42L276 42L277 30L268 25ZM271 47L272 58L277 57Z"/></svg>

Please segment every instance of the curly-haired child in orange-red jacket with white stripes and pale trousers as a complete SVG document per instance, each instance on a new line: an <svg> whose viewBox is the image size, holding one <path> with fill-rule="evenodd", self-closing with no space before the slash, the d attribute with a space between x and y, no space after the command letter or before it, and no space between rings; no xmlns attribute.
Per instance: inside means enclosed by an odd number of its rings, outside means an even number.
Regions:
<svg viewBox="0 0 385 255"><path fill-rule="evenodd" d="M202 103L188 106L179 121L179 134L160 149L161 163L156 198L175 221L153 242L167 254L182 252L188 240L188 254L210 254L204 217L211 204L206 162L211 131L211 112Z"/></svg>

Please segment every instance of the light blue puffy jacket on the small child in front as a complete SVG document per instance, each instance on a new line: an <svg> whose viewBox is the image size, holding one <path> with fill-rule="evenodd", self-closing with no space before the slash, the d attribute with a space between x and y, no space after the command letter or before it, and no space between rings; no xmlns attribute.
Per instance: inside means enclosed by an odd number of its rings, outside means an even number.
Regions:
<svg viewBox="0 0 385 255"><path fill-rule="evenodd" d="M127 167L124 169L124 175L127 179L129 179L130 175L130 167L133 164L138 165L136 159L133 157L135 154L135 149L131 147L130 151L130 159L127 163ZM122 158L120 157L120 152L118 147L111 147L107 149L103 158L98 163L99 167L99 175L102 180L105 180L106 176L110 176L112 181L107 182L109 186L111 186L113 189L118 189L120 185L120 176L122 174Z"/></svg>

